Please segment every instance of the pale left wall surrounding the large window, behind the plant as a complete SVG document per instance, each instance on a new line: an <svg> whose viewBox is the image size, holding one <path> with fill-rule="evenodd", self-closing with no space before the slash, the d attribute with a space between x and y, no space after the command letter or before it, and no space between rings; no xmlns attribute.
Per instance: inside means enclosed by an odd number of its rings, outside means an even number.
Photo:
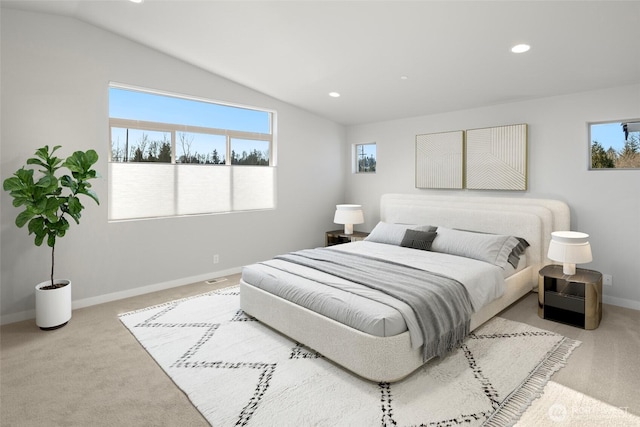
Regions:
<svg viewBox="0 0 640 427"><path fill-rule="evenodd" d="M2 180L45 144L62 145L64 156L89 148L100 156L101 204L87 200L82 223L56 247L56 276L72 279L76 306L239 271L320 246L335 227L334 205L344 202L342 126L74 19L4 8L1 19ZM276 110L277 209L108 223L110 81ZM33 315L33 287L48 278L50 251L15 227L19 211L6 192L0 201L6 323Z"/></svg>

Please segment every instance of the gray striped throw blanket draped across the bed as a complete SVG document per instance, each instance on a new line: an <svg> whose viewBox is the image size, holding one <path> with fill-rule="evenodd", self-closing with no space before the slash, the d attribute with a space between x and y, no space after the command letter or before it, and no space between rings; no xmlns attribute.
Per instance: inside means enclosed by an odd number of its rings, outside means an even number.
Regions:
<svg viewBox="0 0 640 427"><path fill-rule="evenodd" d="M424 339L425 361L445 355L469 333L473 311L469 295L460 282L450 277L326 248L275 258L368 286L406 303L415 313Z"/></svg>

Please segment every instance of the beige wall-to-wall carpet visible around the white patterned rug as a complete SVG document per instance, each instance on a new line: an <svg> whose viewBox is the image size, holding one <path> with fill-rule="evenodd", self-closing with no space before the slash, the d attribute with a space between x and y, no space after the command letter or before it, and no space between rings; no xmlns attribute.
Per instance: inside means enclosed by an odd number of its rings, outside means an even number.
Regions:
<svg viewBox="0 0 640 427"><path fill-rule="evenodd" d="M122 327L118 315L234 285L238 280L234 275L218 285L196 283L75 310L69 324L57 331L42 332L32 320L2 326L0 425L208 425ZM582 342L552 380L578 396L584 393L640 416L640 312L605 305L600 327L584 331L539 319L536 297L523 298L501 316ZM549 408L555 399L543 395L536 402ZM541 413L546 412L542 409ZM539 425L538 421L523 424L527 422L523 418L520 425ZM585 423L581 420L573 425Z"/></svg>

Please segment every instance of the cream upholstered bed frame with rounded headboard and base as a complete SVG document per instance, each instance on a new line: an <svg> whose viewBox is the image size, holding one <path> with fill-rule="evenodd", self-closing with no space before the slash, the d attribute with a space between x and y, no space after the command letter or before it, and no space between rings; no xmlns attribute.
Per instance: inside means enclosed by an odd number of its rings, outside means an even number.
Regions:
<svg viewBox="0 0 640 427"><path fill-rule="evenodd" d="M472 314L473 330L534 289L538 270L548 262L551 232L569 229L569 209L548 199L386 194L380 202L380 220L526 239L529 247L522 258L526 265L504 279L502 296ZM240 282L241 308L247 314L357 375L393 382L423 365L422 349L412 346L408 330L390 336L362 332L254 286L254 277L243 272Z"/></svg>

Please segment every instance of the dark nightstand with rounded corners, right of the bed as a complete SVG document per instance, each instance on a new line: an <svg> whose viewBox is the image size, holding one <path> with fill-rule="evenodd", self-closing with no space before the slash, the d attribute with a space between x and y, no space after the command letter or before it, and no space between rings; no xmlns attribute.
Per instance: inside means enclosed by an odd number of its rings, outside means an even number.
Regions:
<svg viewBox="0 0 640 427"><path fill-rule="evenodd" d="M576 268L568 276L561 265L547 265L538 273L538 316L596 329L602 319L602 274Z"/></svg>

